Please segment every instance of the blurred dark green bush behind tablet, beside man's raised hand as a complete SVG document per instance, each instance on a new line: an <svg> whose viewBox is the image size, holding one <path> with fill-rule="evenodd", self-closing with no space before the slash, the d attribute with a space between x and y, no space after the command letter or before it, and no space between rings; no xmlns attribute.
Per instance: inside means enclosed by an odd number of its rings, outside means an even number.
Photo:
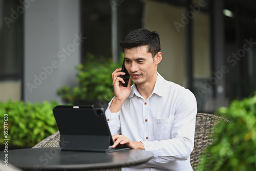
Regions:
<svg viewBox="0 0 256 171"><path fill-rule="evenodd" d="M115 63L108 58L96 59L89 53L87 61L75 68L78 86L73 88L62 86L57 90L57 94L62 100L71 104L77 101L110 101L114 96L111 75L115 69L121 68L123 58L122 54L120 61Z"/></svg>

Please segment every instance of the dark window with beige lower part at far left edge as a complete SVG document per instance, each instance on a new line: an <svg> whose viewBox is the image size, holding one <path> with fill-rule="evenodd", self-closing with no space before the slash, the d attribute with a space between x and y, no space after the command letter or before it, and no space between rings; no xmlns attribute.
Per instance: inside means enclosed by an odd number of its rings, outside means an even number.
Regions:
<svg viewBox="0 0 256 171"><path fill-rule="evenodd" d="M0 0L0 101L23 97L23 11L20 1Z"/></svg>

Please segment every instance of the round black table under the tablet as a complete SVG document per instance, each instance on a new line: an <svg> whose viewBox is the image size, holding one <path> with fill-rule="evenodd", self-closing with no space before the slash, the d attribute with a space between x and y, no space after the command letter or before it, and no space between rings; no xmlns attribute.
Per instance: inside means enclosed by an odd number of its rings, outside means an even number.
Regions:
<svg viewBox="0 0 256 171"><path fill-rule="evenodd" d="M0 152L3 160L26 170L89 170L129 167L147 162L153 153L141 149L128 149L113 153L61 151L60 147L14 149ZM5 160L5 159L4 159Z"/></svg>

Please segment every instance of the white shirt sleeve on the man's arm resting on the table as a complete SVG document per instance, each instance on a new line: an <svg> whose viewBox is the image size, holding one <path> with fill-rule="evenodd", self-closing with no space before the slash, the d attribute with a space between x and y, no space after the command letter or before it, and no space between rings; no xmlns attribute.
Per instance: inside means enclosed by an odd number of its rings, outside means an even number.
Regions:
<svg viewBox="0 0 256 171"><path fill-rule="evenodd" d="M141 141L146 151L157 160L187 160L194 148L197 102L193 93L184 89L177 98L171 139Z"/></svg>

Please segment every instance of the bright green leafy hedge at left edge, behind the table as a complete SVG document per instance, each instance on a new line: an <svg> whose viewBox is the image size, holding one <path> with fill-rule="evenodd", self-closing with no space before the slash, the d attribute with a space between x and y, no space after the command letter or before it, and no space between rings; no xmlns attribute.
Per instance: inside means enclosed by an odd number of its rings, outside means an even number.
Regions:
<svg viewBox="0 0 256 171"><path fill-rule="evenodd" d="M7 115L9 145L33 146L58 131L52 112L56 105L55 101L34 104L11 100L0 102L0 143L7 139L4 137L4 116Z"/></svg>

